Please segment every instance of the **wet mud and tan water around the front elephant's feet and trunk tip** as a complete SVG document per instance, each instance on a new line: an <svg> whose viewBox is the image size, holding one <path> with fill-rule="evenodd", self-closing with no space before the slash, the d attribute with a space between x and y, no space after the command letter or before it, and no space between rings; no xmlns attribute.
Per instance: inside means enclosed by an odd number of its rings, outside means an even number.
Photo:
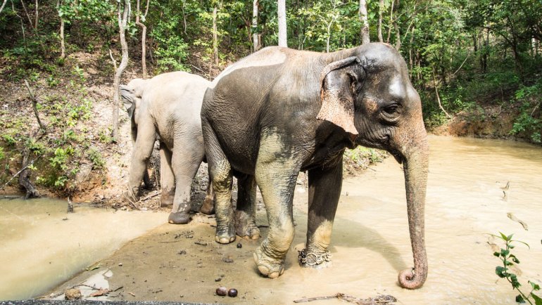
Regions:
<svg viewBox="0 0 542 305"><path fill-rule="evenodd" d="M431 136L429 143L429 277L420 290L404 290L397 283L398 272L412 266L412 254L403 171L387 158L362 176L344 180L329 268L307 269L297 263L307 222L307 193L298 186L296 235L286 271L278 279L258 275L252 256L261 240L238 238L219 245L213 238L214 219L196 216L189 225L164 224L132 240L103 260L101 269L84 272L55 292L111 272L107 285L116 291L104 297L112 300L285 304L342 292L361 298L391 294L398 304L514 304L517 293L495 275L500 262L493 252L502 244L488 233L515 233L517 240L529 243L530 249L517 245L513 250L521 261L513 271L524 287L527 280L541 283L542 150L524 143L441 136ZM265 236L261 207L257 216ZM239 295L219 297L219 286L234 287Z"/></svg>

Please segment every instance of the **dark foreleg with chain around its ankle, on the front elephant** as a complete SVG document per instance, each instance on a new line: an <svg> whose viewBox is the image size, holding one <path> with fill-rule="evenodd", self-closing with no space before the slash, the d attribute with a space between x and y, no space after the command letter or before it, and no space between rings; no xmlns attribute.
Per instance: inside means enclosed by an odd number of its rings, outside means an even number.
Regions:
<svg viewBox="0 0 542 305"><path fill-rule="evenodd" d="M308 171L307 244L300 254L301 266L328 266L331 262L327 247L332 238L343 174L342 157L338 159L333 167Z"/></svg>

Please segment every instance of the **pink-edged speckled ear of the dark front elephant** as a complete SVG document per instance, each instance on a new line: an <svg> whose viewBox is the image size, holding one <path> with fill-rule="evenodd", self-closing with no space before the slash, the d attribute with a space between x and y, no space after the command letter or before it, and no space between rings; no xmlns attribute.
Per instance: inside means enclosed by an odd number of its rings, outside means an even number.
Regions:
<svg viewBox="0 0 542 305"><path fill-rule="evenodd" d="M357 135L354 126L354 96L351 84L360 82L363 69L358 65L360 58L352 56L330 63L322 71L320 77L320 100L322 108L317 119L332 122L344 131Z"/></svg>

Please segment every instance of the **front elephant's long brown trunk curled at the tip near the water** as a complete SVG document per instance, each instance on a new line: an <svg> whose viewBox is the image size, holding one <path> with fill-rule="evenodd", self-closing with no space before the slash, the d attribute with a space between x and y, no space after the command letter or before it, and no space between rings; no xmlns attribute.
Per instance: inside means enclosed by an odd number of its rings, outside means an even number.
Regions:
<svg viewBox="0 0 542 305"><path fill-rule="evenodd" d="M429 167L429 145L425 129L403 151L403 169L408 209L408 228L414 255L414 268L401 271L399 284L408 289L422 287L427 278L427 254L424 240L424 208Z"/></svg>

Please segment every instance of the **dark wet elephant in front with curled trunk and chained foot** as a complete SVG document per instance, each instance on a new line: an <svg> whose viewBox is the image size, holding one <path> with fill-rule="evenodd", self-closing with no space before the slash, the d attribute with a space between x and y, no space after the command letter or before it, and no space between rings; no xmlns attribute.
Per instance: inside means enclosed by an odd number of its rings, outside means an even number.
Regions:
<svg viewBox="0 0 542 305"><path fill-rule="evenodd" d="M315 53L269 47L228 67L207 90L201 109L206 155L215 190L215 240L256 238L256 184L263 195L269 233L254 259L269 278L284 271L294 239L292 200L299 171L308 171L307 241L301 264L329 260L332 225L342 184L345 148L389 151L403 163L414 269L401 286L427 278L424 204L427 133L420 96L405 61L387 44ZM232 174L244 175L237 211Z"/></svg>

